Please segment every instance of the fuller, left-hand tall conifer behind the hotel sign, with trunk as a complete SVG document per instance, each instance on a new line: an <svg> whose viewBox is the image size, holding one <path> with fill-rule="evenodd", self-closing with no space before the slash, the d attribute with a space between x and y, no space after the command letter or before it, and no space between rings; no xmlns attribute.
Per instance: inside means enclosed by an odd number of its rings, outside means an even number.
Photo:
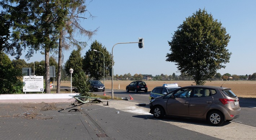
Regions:
<svg viewBox="0 0 256 140"><path fill-rule="evenodd" d="M18 59L23 50L28 50L25 58L34 53L45 55L45 90L50 93L49 54L58 47L56 29L57 5L55 1L45 0L1 0L0 5L6 10L12 22L12 39L5 51Z"/></svg>

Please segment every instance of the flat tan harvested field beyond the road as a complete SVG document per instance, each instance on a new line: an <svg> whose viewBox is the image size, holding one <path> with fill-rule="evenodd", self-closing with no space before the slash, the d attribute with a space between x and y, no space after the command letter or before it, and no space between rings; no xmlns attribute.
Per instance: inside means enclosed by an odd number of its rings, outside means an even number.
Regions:
<svg viewBox="0 0 256 140"><path fill-rule="evenodd" d="M103 83L103 80L101 80ZM113 88L118 89L120 85L120 89L125 90L125 87L130 84L132 81L127 80L119 80L113 81ZM162 86L163 84L172 84L177 83L181 87L189 86L194 81L145 81L148 87L148 91L151 91L156 86ZM223 84L223 85L222 85ZM70 86L70 83L61 84L63 86ZM204 85L211 85L211 86L218 86L220 87L228 87L238 96L244 98L256 98L256 81L207 81ZM111 80L105 80L105 87L106 89L111 89L112 82Z"/></svg>

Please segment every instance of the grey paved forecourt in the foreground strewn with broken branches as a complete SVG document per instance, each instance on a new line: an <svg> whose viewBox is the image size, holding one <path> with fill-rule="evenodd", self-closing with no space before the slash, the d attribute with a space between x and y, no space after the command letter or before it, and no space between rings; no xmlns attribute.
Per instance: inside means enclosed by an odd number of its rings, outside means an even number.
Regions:
<svg viewBox="0 0 256 140"><path fill-rule="evenodd" d="M221 127L205 121L155 120L149 105L103 103L0 103L1 140L170 140L255 139L256 128L235 122ZM108 103L108 106L106 104Z"/></svg>

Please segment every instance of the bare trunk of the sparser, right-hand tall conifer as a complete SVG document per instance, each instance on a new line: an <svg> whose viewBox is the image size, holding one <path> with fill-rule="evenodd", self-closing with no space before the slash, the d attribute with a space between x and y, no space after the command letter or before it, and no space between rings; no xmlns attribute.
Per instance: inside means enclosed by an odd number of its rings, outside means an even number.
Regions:
<svg viewBox="0 0 256 140"><path fill-rule="evenodd" d="M61 70L62 70L62 31L59 33L59 58L58 58L58 76L57 76L57 91L61 92Z"/></svg>

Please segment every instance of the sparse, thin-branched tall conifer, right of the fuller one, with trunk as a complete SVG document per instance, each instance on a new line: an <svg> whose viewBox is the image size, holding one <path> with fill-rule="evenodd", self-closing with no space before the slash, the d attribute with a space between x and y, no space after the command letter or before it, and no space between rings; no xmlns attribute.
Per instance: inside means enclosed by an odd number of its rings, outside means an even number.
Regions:
<svg viewBox="0 0 256 140"><path fill-rule="evenodd" d="M87 30L80 25L80 19L85 18L86 4L85 0L62 0L56 1L57 13L58 13L58 24L57 29L59 30L59 47L58 47L58 76L57 76L57 93L60 92L60 81L61 81L61 71L62 71L62 61L63 53L62 50L72 47L85 47L86 42L80 42L75 39L75 31L78 31L82 36L87 36L91 38L92 35L97 32ZM92 17L90 12L87 12L89 17Z"/></svg>

